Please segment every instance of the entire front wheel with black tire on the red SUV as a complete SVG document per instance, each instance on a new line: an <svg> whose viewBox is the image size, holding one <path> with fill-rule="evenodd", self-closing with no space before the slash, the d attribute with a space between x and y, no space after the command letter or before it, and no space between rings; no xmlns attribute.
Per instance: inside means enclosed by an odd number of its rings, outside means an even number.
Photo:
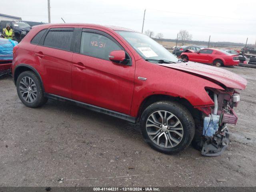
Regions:
<svg viewBox="0 0 256 192"><path fill-rule="evenodd" d="M140 126L144 140L153 149L166 154L184 150L195 134L192 115L177 102L151 104L142 113Z"/></svg>

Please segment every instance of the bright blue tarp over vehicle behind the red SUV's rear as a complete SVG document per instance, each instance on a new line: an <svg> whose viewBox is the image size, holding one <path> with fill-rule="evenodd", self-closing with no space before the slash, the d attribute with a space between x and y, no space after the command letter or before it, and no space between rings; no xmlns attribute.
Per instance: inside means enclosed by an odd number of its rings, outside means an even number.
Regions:
<svg viewBox="0 0 256 192"><path fill-rule="evenodd" d="M12 60L12 50L18 42L0 38L0 60Z"/></svg>

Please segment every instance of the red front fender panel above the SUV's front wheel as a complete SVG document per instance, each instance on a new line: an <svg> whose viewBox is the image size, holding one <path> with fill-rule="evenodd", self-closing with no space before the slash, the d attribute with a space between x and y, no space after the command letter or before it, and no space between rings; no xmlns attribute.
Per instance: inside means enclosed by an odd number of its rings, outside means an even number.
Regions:
<svg viewBox="0 0 256 192"><path fill-rule="evenodd" d="M138 79L139 76L147 80L142 81ZM145 63L144 60L138 61L138 64L136 62L134 96L130 115L136 117L142 102L152 95L184 98L194 107L212 106L214 102L207 94L205 87L223 90L221 86L210 80L163 68L156 64Z"/></svg>

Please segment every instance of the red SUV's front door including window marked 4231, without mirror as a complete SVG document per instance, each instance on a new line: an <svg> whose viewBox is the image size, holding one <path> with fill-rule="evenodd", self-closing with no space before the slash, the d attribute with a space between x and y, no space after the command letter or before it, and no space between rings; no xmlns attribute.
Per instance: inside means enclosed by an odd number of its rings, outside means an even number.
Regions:
<svg viewBox="0 0 256 192"><path fill-rule="evenodd" d="M72 98L102 108L130 114L134 90L135 62L111 62L108 55L124 48L109 34L83 29L72 66Z"/></svg>

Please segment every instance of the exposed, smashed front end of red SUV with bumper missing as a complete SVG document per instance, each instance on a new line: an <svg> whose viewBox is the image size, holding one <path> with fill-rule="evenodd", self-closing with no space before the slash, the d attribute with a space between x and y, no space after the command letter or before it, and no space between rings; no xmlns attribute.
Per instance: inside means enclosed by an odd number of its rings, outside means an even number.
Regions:
<svg viewBox="0 0 256 192"><path fill-rule="evenodd" d="M236 124L238 118L233 108L240 101L239 93L234 89L216 90L207 88L206 92L214 101L214 106L203 109L201 122L200 148L204 156L218 156L229 144L227 124ZM201 109L202 110L202 109Z"/></svg>

